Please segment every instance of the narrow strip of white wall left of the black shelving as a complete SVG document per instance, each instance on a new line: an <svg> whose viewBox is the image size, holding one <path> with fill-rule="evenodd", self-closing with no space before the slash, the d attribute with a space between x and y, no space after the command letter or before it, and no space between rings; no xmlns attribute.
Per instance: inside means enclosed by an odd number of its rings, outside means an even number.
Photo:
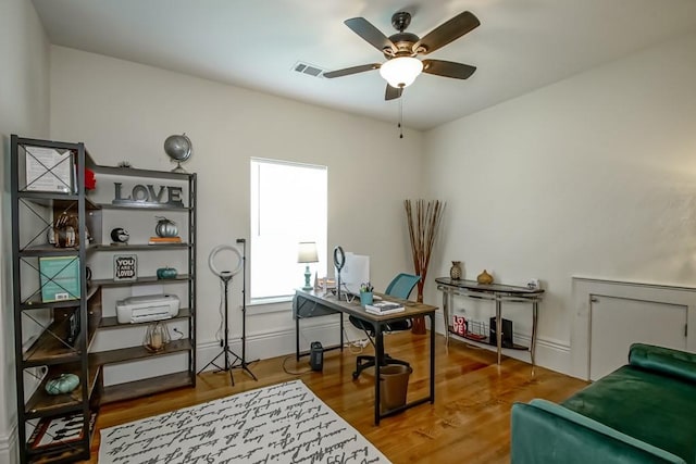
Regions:
<svg viewBox="0 0 696 464"><path fill-rule="evenodd" d="M14 338L12 337L12 229L10 135L49 136L49 48L32 2L0 2L0 462L16 462Z"/></svg>

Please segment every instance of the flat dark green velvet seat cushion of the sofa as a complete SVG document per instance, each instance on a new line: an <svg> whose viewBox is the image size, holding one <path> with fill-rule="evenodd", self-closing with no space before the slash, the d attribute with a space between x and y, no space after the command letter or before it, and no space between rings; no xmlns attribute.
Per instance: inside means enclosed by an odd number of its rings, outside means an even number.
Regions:
<svg viewBox="0 0 696 464"><path fill-rule="evenodd" d="M696 384L626 365L561 403L622 434L696 459Z"/></svg>

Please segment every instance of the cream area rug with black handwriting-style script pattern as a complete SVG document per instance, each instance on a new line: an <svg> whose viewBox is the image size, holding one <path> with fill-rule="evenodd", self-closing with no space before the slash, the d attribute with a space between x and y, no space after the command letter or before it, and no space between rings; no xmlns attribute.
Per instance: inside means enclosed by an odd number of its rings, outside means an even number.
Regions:
<svg viewBox="0 0 696 464"><path fill-rule="evenodd" d="M300 380L101 430L99 463L388 463Z"/></svg>

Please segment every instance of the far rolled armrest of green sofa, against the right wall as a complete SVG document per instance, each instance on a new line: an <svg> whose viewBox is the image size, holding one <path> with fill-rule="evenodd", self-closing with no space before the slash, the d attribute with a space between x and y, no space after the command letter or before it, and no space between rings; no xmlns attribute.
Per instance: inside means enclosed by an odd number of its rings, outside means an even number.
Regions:
<svg viewBox="0 0 696 464"><path fill-rule="evenodd" d="M654 344L633 343L629 364L696 383L696 354Z"/></svg>

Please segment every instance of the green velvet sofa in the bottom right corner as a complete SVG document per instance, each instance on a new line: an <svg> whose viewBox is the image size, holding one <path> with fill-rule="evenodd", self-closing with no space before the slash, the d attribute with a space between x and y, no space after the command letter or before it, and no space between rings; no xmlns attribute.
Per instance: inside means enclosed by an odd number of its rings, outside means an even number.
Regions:
<svg viewBox="0 0 696 464"><path fill-rule="evenodd" d="M512 405L512 464L696 464L696 354L643 343L561 404Z"/></svg>

